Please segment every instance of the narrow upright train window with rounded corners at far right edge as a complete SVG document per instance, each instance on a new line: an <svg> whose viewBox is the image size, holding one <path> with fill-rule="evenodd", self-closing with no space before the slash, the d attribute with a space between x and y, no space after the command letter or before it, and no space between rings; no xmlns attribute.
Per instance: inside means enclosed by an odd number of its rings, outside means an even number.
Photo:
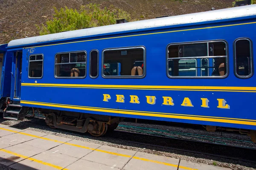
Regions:
<svg viewBox="0 0 256 170"><path fill-rule="evenodd" d="M246 38L235 41L235 74L239 78L253 75L252 43Z"/></svg>

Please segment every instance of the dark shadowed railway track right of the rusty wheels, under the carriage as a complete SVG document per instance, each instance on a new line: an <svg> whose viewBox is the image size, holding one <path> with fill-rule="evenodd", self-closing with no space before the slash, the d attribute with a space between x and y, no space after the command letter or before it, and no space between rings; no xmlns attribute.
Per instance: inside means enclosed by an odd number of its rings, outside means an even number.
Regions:
<svg viewBox="0 0 256 170"><path fill-rule="evenodd" d="M255 148L238 147L225 144L194 141L187 139L173 139L163 136L154 136L135 132L115 130L107 134L108 138L132 142L134 144L161 147L163 149L177 150L189 153L204 154L237 161L250 161L256 164ZM142 142L143 141L143 142Z"/></svg>

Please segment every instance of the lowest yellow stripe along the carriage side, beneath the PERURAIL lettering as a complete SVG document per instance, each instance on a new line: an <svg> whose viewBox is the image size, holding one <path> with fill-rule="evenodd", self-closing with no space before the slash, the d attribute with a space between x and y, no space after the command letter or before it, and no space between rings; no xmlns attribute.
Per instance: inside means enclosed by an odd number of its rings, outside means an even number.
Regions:
<svg viewBox="0 0 256 170"><path fill-rule="evenodd" d="M244 121L244 120L234 120L234 119L220 119L220 118L207 118L207 117L196 117L193 115L190 116L181 116L181 115L170 115L169 113L150 113L150 112L134 112L134 111L124 111L124 110L108 110L103 108L85 108L82 106L73 106L73 105L61 105L61 104L52 104L52 103L39 103L39 102L29 102L21 100L20 103L29 104L29 105L41 105L49 106L55 108L68 108L84 111L96 111L96 112L106 112L106 113L118 113L118 114L128 114L128 115L138 115L138 116L153 116L153 117L163 117L163 118L172 118L172 119L187 119L187 120L198 120L198 121L207 121L207 122L222 122L222 123L233 123L241 125L253 125L256 126L256 122Z"/></svg>

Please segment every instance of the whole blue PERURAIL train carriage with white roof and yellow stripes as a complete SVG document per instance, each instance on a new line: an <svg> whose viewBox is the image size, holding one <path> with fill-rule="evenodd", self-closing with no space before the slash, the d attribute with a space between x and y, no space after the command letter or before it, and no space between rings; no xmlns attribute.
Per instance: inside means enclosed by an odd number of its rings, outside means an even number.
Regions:
<svg viewBox="0 0 256 170"><path fill-rule="evenodd" d="M13 40L4 118L30 107L93 136L138 118L244 129L256 142L255 30L249 5Z"/></svg>

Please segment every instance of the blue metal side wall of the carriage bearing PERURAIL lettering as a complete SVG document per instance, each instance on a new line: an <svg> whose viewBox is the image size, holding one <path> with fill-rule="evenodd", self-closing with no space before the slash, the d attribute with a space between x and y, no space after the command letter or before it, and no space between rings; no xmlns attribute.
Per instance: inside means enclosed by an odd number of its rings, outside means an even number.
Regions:
<svg viewBox="0 0 256 170"><path fill-rule="evenodd" d="M255 20L243 20L239 23L255 22ZM250 79L239 79L233 74L233 41L239 37L249 37L256 41L256 35L247 30L256 30L256 24L236 25L226 27L215 27L196 29L201 27L212 27L218 25L236 24L234 20L229 23L213 23L204 26L189 26L179 28L179 30L189 29L187 31L176 31L175 29L165 29L161 31L170 31L164 34L149 34L159 30L151 30L147 35L122 37L114 39L95 40L88 42L77 42L61 45L50 45L38 48L26 49L30 54L44 54L44 74L42 79L29 79L28 62L23 58L23 76L22 83L34 83L33 85L23 85L21 88L22 105L41 108L53 108L58 110L76 111L81 113L103 114L111 116L133 117L140 119L154 119L172 122L195 123L201 125L215 125L225 127L236 127L256 130L256 114L254 114L254 91L242 90L242 87L255 88L255 76ZM246 30L246 31L243 31ZM123 34L123 36L131 33ZM107 38L103 36L100 38ZM228 67L229 75L225 79L170 79L166 76L166 47L169 43L193 42L204 40L226 40L228 42ZM146 49L146 77L143 79L104 79L99 76L91 79L87 76L84 79L55 79L54 63L55 54L65 51L87 51L92 49L102 51L105 48L118 48L144 45ZM253 49L256 49L253 43ZM23 52L24 54L24 52ZM255 53L254 53L255 54ZM255 55L254 55L255 56ZM99 54L99 61L102 60L102 54ZM87 56L89 61L89 56ZM254 60L255 61L255 60ZM87 62L88 63L88 62ZM199 63L200 65L200 63ZM255 63L254 63L255 65ZM209 61L212 66L212 61ZM102 68L102 62L99 62L99 68ZM87 64L87 73L89 66ZM101 73L101 71L99 71ZM58 87L41 84L60 84ZM37 86L37 84L40 84ZM70 88L69 84L80 87ZM95 85L89 87L86 85ZM112 85L105 88L97 85ZM113 88L114 85L139 85L140 88ZM149 89L148 85L154 85ZM191 90L173 88L164 89L163 86L190 86L201 87ZM214 87L235 87L237 90L222 90ZM143 89L143 87L145 87ZM212 87L209 90L205 89ZM103 101L103 94L108 94L111 99L108 102ZM116 95L124 95L124 102L116 102ZM131 96L136 95L140 103L131 103ZM146 96L155 96L155 104L148 104ZM164 105L163 96L172 97L174 105ZM186 98L190 99L192 107L183 106ZM209 108L202 107L202 99L209 100ZM218 108L218 99L224 99L229 105L228 109ZM225 106L225 104L223 105ZM244 119L244 120L242 120Z"/></svg>

